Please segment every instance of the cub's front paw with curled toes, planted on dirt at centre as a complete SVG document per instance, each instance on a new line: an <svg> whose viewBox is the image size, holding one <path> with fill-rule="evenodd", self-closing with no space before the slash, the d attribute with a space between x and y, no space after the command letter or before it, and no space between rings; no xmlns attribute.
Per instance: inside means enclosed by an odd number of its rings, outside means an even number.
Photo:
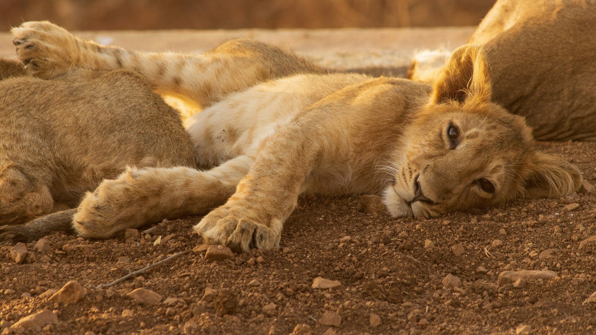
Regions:
<svg viewBox="0 0 596 335"><path fill-rule="evenodd" d="M252 206L225 204L207 214L194 229L209 243L224 244L236 252L271 249L280 244L283 222L263 213Z"/></svg>

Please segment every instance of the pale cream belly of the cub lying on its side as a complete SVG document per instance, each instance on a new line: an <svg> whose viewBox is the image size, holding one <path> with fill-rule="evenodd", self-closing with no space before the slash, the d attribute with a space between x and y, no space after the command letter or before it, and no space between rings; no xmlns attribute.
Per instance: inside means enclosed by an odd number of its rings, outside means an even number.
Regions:
<svg viewBox="0 0 596 335"><path fill-rule="evenodd" d="M260 142L316 101L369 77L357 74L298 75L261 83L205 108L185 122L198 165L216 166L255 155Z"/></svg>

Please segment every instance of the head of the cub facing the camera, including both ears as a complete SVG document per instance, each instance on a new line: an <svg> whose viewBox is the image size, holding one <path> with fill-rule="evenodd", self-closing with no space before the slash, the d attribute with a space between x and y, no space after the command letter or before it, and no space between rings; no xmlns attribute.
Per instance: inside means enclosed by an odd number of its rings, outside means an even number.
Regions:
<svg viewBox="0 0 596 335"><path fill-rule="evenodd" d="M394 216L437 216L516 197L561 197L581 174L535 148L523 117L491 102L482 49L455 50L433 84L430 101L396 152L395 182L385 191Z"/></svg>

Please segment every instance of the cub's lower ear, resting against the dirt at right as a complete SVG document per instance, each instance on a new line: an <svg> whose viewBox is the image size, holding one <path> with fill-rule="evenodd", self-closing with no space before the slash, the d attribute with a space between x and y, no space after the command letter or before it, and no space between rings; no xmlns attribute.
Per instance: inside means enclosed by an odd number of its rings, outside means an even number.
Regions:
<svg viewBox="0 0 596 335"><path fill-rule="evenodd" d="M582 175L578 168L560 157L536 153L529 166L526 191L529 198L558 198L579 190Z"/></svg>

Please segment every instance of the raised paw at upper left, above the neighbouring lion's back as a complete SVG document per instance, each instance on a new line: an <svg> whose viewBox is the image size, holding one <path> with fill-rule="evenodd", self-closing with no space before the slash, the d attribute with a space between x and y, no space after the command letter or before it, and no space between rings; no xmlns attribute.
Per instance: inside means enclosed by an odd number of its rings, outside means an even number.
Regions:
<svg viewBox="0 0 596 335"><path fill-rule="evenodd" d="M77 39L48 21L30 21L13 28L17 57L30 75L50 79L79 63Z"/></svg>

